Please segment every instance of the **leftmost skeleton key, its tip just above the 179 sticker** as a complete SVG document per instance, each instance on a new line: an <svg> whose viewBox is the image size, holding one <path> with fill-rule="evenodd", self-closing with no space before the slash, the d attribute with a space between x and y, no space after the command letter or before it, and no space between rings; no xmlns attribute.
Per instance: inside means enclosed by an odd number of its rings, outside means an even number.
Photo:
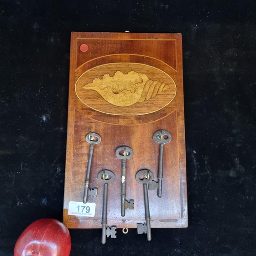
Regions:
<svg viewBox="0 0 256 256"><path fill-rule="evenodd" d="M98 193L97 188L89 189L89 182L90 182L90 172L91 172L94 145L100 143L101 138L97 133L90 132L86 136L86 141L88 143L90 143L90 149L89 149L89 159L88 159L88 164L87 164L86 181L84 184L84 193L83 193L83 203L84 204L87 203L88 196L96 197L97 193Z"/></svg>

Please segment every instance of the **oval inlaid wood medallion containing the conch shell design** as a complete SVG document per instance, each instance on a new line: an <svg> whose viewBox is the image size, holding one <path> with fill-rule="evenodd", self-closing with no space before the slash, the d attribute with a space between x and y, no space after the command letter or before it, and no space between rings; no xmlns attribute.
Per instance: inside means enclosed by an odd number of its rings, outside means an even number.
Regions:
<svg viewBox="0 0 256 256"><path fill-rule="evenodd" d="M84 72L77 73L75 83L76 96L91 110L134 116L153 113L167 106L175 108L175 103L171 102L177 92L176 72L165 63L157 62L158 67L135 62L93 64L86 63ZM81 105L80 108L84 107Z"/></svg>

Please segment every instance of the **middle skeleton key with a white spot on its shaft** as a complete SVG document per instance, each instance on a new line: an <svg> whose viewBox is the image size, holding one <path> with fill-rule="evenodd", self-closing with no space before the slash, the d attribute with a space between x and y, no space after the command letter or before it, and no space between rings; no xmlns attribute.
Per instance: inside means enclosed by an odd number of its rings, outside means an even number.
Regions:
<svg viewBox="0 0 256 256"><path fill-rule="evenodd" d="M133 157L133 150L129 146L120 146L116 150L116 156L122 159L122 177L121 177L121 216L125 216L125 209L134 209L134 200L125 200L126 196L126 159Z"/></svg>

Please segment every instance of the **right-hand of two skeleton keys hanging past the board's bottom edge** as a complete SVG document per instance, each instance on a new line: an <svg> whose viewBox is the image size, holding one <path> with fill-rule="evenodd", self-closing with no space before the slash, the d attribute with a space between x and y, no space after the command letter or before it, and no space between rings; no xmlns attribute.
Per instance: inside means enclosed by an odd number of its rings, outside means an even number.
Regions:
<svg viewBox="0 0 256 256"><path fill-rule="evenodd" d="M146 233L147 240L150 241L151 240L150 203L148 202L147 183L153 180L153 173L148 169L142 169L137 172L135 178L139 183L143 183L145 220L146 220L146 224L145 223L137 224L137 232L138 234Z"/></svg>

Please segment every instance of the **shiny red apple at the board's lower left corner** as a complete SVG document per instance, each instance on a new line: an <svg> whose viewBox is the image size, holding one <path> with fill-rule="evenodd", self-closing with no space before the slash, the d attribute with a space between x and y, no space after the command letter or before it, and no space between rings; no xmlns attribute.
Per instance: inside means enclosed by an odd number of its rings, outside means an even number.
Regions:
<svg viewBox="0 0 256 256"><path fill-rule="evenodd" d="M14 256L69 256L71 238L68 228L55 219L30 224L18 238Z"/></svg>

